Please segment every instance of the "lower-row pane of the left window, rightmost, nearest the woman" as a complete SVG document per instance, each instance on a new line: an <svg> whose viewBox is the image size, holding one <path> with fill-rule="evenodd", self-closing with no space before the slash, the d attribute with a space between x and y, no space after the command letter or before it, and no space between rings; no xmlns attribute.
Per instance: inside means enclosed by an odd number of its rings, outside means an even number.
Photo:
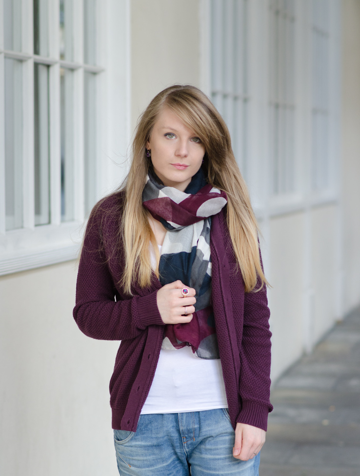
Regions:
<svg viewBox="0 0 360 476"><path fill-rule="evenodd" d="M84 74L85 212L96 201L96 75Z"/></svg>

